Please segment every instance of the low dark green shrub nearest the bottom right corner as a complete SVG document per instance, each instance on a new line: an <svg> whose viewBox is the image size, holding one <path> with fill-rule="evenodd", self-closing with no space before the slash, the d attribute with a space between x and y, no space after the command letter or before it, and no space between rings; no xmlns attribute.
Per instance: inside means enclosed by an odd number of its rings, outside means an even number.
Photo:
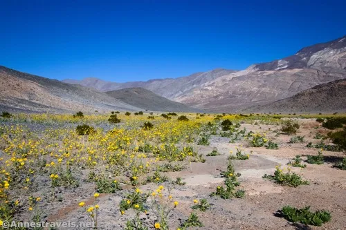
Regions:
<svg viewBox="0 0 346 230"><path fill-rule="evenodd" d="M290 222L300 222L302 224L309 224L314 226L321 226L323 223L331 220L331 215L328 211L311 212L310 207L303 209L296 209L294 207L285 206L280 213L286 220Z"/></svg>

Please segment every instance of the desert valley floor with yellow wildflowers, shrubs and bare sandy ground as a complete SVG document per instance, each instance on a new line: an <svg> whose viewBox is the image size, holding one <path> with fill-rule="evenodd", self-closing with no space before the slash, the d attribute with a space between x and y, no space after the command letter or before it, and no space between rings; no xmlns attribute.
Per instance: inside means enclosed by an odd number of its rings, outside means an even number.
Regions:
<svg viewBox="0 0 346 230"><path fill-rule="evenodd" d="M344 229L345 119L6 113L0 229Z"/></svg>

